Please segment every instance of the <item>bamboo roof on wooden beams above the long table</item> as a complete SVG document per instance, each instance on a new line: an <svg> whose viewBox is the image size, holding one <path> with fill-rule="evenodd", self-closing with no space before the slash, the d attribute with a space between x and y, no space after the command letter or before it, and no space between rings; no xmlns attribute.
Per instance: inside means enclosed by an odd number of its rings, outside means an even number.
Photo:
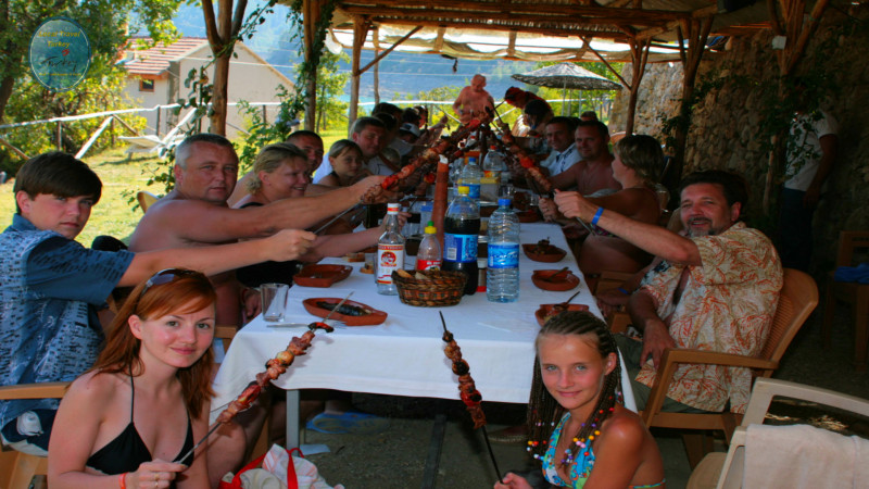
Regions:
<svg viewBox="0 0 869 489"><path fill-rule="evenodd" d="M650 61L671 61L679 59L677 28L692 20L714 16L713 36L769 27L764 0L733 12L723 9L725 2L747 4L745 0L337 0L327 42L352 47L354 21L362 20L377 27L377 38L369 29L364 49L386 49L421 27L396 49L525 61L600 61L600 54L629 62L629 43L651 39Z"/></svg>

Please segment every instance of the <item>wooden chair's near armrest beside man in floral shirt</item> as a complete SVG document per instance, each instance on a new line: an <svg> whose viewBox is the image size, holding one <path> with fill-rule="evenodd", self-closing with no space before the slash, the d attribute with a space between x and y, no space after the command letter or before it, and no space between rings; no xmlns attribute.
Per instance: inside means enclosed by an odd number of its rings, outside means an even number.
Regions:
<svg viewBox="0 0 869 489"><path fill-rule="evenodd" d="M664 350L657 373L655 374L655 385L648 393L648 401L643 409L643 423L648 426L655 414L660 412L664 399L667 397L672 376L676 368L682 363L725 365L757 369L774 369L779 366L778 362L770 360L756 359L754 356L736 355L733 353L720 353L706 350L694 350L687 348L668 348Z"/></svg>

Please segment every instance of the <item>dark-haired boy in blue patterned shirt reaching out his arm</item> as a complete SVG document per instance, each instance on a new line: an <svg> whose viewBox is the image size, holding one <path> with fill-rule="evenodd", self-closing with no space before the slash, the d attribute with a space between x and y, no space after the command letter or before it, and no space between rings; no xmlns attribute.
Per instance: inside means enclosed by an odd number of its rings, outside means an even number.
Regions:
<svg viewBox="0 0 869 489"><path fill-rule="evenodd" d="M104 341L96 311L117 286L138 285L169 267L215 274L292 260L314 238L287 230L209 249L96 251L73 241L102 193L87 164L66 153L41 154L21 167L13 190L17 212L0 235L2 386L71 381L90 368ZM58 405L56 399L0 402L3 442L45 455Z"/></svg>

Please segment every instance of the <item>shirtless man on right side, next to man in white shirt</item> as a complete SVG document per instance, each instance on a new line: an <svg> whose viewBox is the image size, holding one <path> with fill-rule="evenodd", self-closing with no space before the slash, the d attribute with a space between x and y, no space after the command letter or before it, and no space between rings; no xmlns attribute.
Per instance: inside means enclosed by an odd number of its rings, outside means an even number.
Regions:
<svg viewBox="0 0 869 489"><path fill-rule="evenodd" d="M599 121L580 121L575 131L577 151L581 160L550 178L558 190L577 190L590 196L601 190L620 190L613 177L613 155L609 154L609 129Z"/></svg>

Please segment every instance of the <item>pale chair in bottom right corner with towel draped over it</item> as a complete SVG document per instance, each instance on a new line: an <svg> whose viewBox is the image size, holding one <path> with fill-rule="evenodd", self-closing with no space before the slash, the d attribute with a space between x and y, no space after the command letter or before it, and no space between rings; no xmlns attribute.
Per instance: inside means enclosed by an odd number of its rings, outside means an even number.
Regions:
<svg viewBox="0 0 869 489"><path fill-rule="evenodd" d="M740 427L733 432L727 454L716 452L706 455L691 474L688 481L689 489L742 487L747 427L752 424L764 423L769 404L776 396L809 401L869 416L869 401L865 399L786 380L758 378L745 409L745 416ZM709 484L709 481L713 482Z"/></svg>

